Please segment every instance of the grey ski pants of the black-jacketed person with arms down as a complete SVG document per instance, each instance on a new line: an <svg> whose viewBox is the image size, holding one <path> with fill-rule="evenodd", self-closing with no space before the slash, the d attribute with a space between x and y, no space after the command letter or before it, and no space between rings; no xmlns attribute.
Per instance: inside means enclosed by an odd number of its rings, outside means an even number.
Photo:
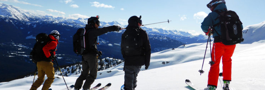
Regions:
<svg viewBox="0 0 265 90"><path fill-rule="evenodd" d="M124 66L124 88L125 90L133 90L136 88L137 76L142 66Z"/></svg>

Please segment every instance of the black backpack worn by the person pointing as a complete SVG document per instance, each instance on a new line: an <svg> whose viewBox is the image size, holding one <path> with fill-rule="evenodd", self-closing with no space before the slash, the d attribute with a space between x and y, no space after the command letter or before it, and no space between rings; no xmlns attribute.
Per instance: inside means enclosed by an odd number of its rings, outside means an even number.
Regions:
<svg viewBox="0 0 265 90"><path fill-rule="evenodd" d="M73 52L75 52L77 55L82 55L86 49L85 35L89 31L90 30L86 31L85 28L80 28L73 35Z"/></svg>

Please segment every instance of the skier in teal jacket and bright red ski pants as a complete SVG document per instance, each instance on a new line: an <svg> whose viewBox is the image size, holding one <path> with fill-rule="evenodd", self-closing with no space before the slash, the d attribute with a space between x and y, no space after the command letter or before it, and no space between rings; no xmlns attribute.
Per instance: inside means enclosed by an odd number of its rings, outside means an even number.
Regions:
<svg viewBox="0 0 265 90"><path fill-rule="evenodd" d="M211 53L211 61L214 63L211 64L210 71L208 74L208 84L207 88L204 90L215 90L217 88L218 76L219 76L219 64L222 57L223 63L223 82L225 90L229 90L229 84L231 81L231 67L232 67L232 55L235 50L235 45L224 45L221 42L220 36L217 33L221 34L220 24L213 27L214 29L209 29L213 25L220 22L217 12L224 12L227 10L226 2L224 0L212 0L207 7L212 11L204 18L204 21L201 23L201 29L206 35L213 34L214 44ZM212 33L211 33L212 32Z"/></svg>

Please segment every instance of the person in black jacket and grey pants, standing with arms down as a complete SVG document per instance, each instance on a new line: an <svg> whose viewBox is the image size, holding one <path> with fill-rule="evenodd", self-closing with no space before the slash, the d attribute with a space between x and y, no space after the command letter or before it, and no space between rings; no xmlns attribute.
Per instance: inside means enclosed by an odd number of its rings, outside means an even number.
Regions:
<svg viewBox="0 0 265 90"><path fill-rule="evenodd" d="M150 64L151 46L149 38L142 26L141 16L132 16L129 25L121 37L121 53L124 58L124 90L136 88L136 77L142 67L148 69Z"/></svg>

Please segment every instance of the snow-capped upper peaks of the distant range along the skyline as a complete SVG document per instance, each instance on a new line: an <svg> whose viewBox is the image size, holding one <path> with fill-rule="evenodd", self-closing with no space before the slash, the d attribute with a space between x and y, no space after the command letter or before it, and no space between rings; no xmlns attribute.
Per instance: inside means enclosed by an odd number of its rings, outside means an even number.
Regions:
<svg viewBox="0 0 265 90"><path fill-rule="evenodd" d="M80 28L80 27L84 27L84 25L87 23L87 19L88 18L79 18L79 19L69 19L67 17L53 17L53 16L48 16L48 15L34 15L30 12L18 9L16 7L13 7L12 5L8 5L8 4L4 4L4 3L0 3L0 16L2 17L8 17L8 18L12 18L12 19L18 19L18 20L22 20L22 21L28 21L29 25L32 24L34 25L34 23L36 22L50 22L50 23L59 23L59 24L65 24L65 25L69 25L69 26L73 26L76 28ZM121 25L119 22L117 21L113 21L113 22L101 22L102 27L104 26L111 26L111 25L118 25L121 26L123 28L126 27ZM157 28L146 28L146 27L142 27L144 30L146 30L148 32L148 34L156 34L156 35L162 35L162 36L167 36L171 39L175 39L175 40L180 40L181 41L181 37L193 37L191 34L189 34L188 32L182 32L182 31L177 31L177 30L163 30L163 29L157 29ZM197 36L196 38L204 38L201 36ZM200 39L198 39L197 41L200 41ZM189 42L191 43L191 42Z"/></svg>

